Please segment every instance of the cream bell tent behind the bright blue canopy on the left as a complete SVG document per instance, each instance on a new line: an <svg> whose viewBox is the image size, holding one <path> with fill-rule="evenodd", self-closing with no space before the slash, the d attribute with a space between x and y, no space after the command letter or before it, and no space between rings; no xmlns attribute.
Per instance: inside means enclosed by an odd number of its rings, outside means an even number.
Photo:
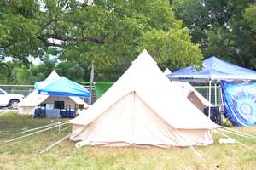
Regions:
<svg viewBox="0 0 256 170"><path fill-rule="evenodd" d="M61 78L55 71L52 71L50 75L45 79L45 82L53 81ZM64 101L65 105L69 105L70 109L74 109L75 105L88 105L79 97L63 97L38 94L38 90L33 90L31 94L28 94L25 99L21 100L18 104L18 111L20 115L33 115L35 109L40 104L54 103L55 101Z"/></svg>

